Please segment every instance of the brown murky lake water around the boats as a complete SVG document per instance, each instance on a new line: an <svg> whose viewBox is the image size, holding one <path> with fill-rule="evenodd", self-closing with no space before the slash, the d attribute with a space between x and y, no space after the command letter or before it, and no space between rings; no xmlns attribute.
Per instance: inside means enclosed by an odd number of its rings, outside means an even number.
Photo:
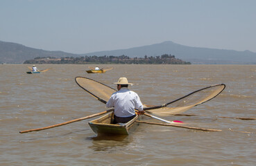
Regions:
<svg viewBox="0 0 256 166"><path fill-rule="evenodd" d="M88 65L0 65L0 165L255 165L255 65L102 65L105 74L87 74ZM92 65L90 65L92 66ZM140 124L126 137L99 138L83 120L44 131L19 133L104 111L105 105L80 89L76 76L113 88L128 77L145 104L164 104L212 84L226 84L218 97L186 111L202 116L162 117L205 132ZM147 121L157 120L145 118ZM232 131L230 131L230 129ZM247 131L247 133L235 132ZM248 133L250 132L250 133Z"/></svg>

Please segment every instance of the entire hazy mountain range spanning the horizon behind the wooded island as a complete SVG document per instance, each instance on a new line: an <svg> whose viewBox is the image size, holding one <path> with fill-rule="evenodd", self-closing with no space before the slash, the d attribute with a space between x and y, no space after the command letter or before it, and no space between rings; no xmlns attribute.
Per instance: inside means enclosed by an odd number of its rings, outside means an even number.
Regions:
<svg viewBox="0 0 256 166"><path fill-rule="evenodd" d="M0 63L23 63L25 60L35 57L81 57L81 56L120 56L148 57L161 56L164 54L175 55L191 64L256 64L256 53L249 50L223 50L214 48L198 48L182 46L173 42L163 42L149 46L121 50L106 50L94 53L72 54L62 51L49 51L29 48L21 44L0 41Z"/></svg>

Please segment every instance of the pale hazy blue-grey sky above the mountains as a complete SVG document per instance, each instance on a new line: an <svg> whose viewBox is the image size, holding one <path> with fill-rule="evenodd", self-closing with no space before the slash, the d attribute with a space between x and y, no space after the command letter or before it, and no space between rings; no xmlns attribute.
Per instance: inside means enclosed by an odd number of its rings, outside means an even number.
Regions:
<svg viewBox="0 0 256 166"><path fill-rule="evenodd" d="M68 53L165 41L256 53L256 1L0 0L0 41Z"/></svg>

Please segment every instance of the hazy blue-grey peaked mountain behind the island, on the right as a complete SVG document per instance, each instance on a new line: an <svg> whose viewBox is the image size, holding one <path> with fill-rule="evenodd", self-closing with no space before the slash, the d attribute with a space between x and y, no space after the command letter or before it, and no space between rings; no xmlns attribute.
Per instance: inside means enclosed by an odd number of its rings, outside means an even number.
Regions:
<svg viewBox="0 0 256 166"><path fill-rule="evenodd" d="M109 50L84 55L127 55L128 57L159 56L163 54L175 55L176 58L192 64L256 64L256 53L249 50L222 50L214 48L198 48L182 46L173 42L163 42L149 46L140 46L122 50Z"/></svg>

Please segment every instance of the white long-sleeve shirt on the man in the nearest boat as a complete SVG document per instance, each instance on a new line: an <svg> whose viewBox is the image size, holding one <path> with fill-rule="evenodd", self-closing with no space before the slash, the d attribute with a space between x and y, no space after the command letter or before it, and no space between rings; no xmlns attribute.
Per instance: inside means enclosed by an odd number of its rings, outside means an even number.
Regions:
<svg viewBox="0 0 256 166"><path fill-rule="evenodd" d="M108 100L106 106L114 107L114 115L118 117L129 117L135 115L135 110L143 111L142 102L139 95L128 88L123 87L119 91L113 93Z"/></svg>

